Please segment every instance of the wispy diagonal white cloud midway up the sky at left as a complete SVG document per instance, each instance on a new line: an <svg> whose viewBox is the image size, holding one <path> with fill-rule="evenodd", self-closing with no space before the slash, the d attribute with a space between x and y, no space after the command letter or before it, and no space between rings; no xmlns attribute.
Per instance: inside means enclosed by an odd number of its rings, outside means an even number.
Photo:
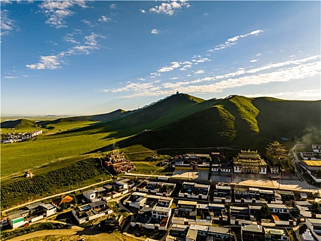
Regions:
<svg viewBox="0 0 321 241"><path fill-rule="evenodd" d="M69 42L74 42L75 46L69 48L67 51L60 52L56 55L41 56L38 63L25 65L31 70L56 70L61 67L61 63L64 63L66 56L78 55L78 54L90 54L93 50L98 50L99 45L97 38L104 38L100 34L91 33L85 36L84 43L79 43L74 39L68 39ZM64 38L65 39L65 38Z"/></svg>

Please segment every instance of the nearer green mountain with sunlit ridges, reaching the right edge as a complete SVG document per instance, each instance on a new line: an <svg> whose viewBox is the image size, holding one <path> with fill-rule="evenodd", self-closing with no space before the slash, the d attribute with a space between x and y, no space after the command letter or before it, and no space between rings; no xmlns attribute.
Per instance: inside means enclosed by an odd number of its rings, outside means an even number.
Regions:
<svg viewBox="0 0 321 241"><path fill-rule="evenodd" d="M177 97L179 96L167 100L171 104L166 105L175 106ZM136 131L140 129L141 132L118 143L118 146L143 145L150 149L233 147L263 150L273 140L286 137L294 141L305 135L307 129L320 130L320 104L321 101L283 101L244 96L194 102L192 105L179 103L178 109L184 109L182 112L177 109L177 112L168 110L166 113L158 113L149 122L139 122L136 118ZM156 109L152 105L148 112L154 111ZM144 116L144 113L140 116ZM164 124L161 120L170 121ZM158 123L159 126L152 126L152 123ZM144 127L147 130L142 132ZM318 132L316 135L320 135Z"/></svg>

